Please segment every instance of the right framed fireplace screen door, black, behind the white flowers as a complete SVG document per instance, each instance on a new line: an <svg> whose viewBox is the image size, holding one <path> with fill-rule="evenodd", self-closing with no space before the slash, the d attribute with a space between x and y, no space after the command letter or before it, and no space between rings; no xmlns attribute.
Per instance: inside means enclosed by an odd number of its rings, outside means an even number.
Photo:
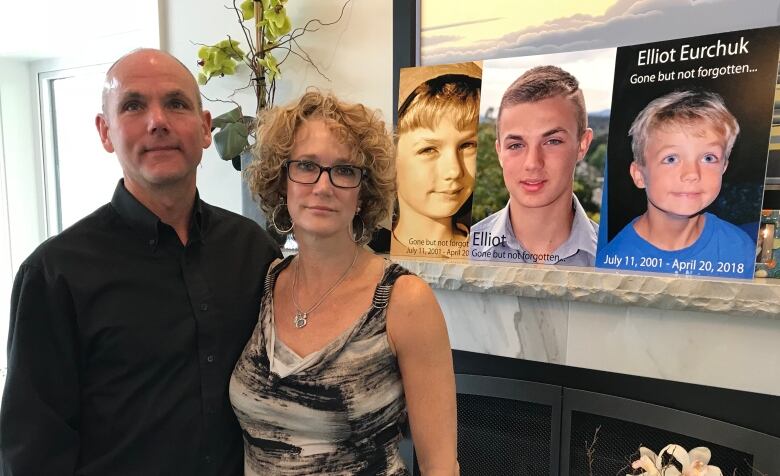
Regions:
<svg viewBox="0 0 780 476"><path fill-rule="evenodd" d="M679 471L673 474L699 474L683 467L696 460L717 466L726 476L774 475L780 469L777 438L669 407L564 388L562 421L564 475L643 474L631 468L640 459L640 447L653 452L645 455L646 465L659 468L671 462ZM656 457L667 445L675 445L671 452L678 458ZM709 451L689 453L697 447Z"/></svg>

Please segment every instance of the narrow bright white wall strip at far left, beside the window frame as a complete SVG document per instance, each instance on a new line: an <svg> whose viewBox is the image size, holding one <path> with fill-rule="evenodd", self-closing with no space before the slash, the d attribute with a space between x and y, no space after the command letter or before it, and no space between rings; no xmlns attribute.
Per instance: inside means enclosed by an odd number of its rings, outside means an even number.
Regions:
<svg viewBox="0 0 780 476"><path fill-rule="evenodd" d="M45 236L34 134L36 101L28 63L0 58L0 71L11 263L16 270Z"/></svg>

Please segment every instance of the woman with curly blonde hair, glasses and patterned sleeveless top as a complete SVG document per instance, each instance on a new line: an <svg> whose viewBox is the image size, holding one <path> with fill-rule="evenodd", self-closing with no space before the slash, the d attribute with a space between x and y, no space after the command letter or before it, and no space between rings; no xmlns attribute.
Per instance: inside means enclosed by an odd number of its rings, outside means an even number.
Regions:
<svg viewBox="0 0 780 476"><path fill-rule="evenodd" d="M246 474L409 474L407 411L423 474L456 474L441 310L421 279L362 246L392 201L384 123L310 91L262 124L249 186L299 252L269 271L230 382Z"/></svg>

